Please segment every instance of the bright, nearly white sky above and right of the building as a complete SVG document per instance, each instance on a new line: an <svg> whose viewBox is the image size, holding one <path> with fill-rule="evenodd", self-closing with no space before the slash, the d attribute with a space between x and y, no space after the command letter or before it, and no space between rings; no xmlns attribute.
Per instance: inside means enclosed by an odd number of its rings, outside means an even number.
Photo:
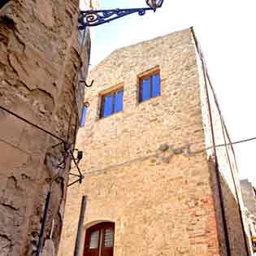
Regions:
<svg viewBox="0 0 256 256"><path fill-rule="evenodd" d="M144 0L101 0L102 9L145 7ZM82 5L82 4L81 4ZM162 9L92 29L91 64L113 50L194 26L232 141L256 137L255 0L165 0ZM236 145L241 178L256 184L256 141Z"/></svg>

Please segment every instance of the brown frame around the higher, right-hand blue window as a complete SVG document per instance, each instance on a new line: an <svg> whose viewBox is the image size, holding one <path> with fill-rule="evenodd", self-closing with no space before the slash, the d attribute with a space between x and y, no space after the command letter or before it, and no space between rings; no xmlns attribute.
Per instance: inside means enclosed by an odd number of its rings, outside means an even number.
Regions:
<svg viewBox="0 0 256 256"><path fill-rule="evenodd" d="M159 85L160 86L160 93L159 93L159 95L156 96L156 97L150 97L150 98L148 98L148 99L146 99L144 101L141 101L141 98L140 98L141 81L144 80L145 78L151 77L151 76L153 76L153 75L155 75L157 73L159 73L159 76L160 76L160 85ZM141 104L143 102L147 102L147 101L149 101L152 98L160 97L161 94L162 94L162 86L161 85L162 85L162 80L161 80L161 70L160 70L160 66L159 65L157 65L155 67L152 67L152 68L148 69L147 71L141 72L139 75L137 75L137 104Z"/></svg>

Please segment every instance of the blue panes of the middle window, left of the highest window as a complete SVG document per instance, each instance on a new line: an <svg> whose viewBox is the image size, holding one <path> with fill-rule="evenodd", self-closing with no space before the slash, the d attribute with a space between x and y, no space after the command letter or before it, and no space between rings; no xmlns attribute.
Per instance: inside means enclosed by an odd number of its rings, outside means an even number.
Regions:
<svg viewBox="0 0 256 256"><path fill-rule="evenodd" d="M124 88L102 95L100 118L123 111Z"/></svg>

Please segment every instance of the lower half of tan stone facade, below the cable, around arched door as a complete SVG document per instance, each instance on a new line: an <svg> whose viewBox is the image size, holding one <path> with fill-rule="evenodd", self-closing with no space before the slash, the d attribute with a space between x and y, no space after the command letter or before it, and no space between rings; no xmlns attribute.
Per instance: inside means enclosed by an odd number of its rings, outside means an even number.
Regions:
<svg viewBox="0 0 256 256"><path fill-rule="evenodd" d="M115 256L221 255L205 170L202 154L177 155L169 164L151 157L86 175L86 185L68 190L59 255L74 252L85 194L85 228L115 222Z"/></svg>

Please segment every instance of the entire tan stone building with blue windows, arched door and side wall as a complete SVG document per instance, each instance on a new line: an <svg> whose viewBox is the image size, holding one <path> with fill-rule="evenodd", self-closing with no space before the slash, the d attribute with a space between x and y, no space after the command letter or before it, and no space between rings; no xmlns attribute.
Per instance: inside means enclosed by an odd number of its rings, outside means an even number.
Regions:
<svg viewBox="0 0 256 256"><path fill-rule="evenodd" d="M76 241L84 256L249 255L235 155L217 146L228 132L203 64L191 28L92 69L76 143L85 182L67 191L59 256Z"/></svg>

